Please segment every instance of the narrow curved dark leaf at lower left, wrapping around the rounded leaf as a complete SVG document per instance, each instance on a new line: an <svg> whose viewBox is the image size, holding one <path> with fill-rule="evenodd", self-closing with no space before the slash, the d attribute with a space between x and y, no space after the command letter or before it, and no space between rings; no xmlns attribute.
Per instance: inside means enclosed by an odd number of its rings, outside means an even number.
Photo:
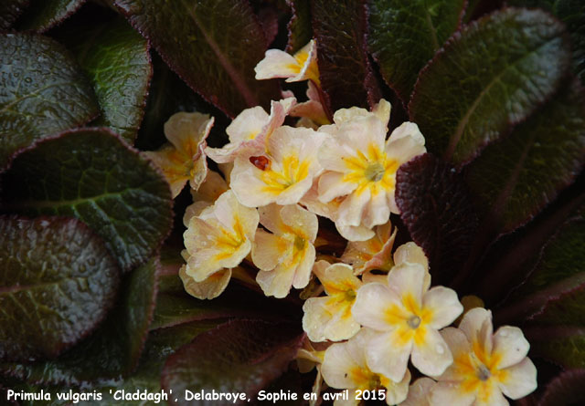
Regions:
<svg viewBox="0 0 585 406"><path fill-rule="evenodd" d="M3 364L0 371L29 382L89 384L120 379L135 369L144 349L156 297L158 260L125 277L120 299L98 330L55 360Z"/></svg>

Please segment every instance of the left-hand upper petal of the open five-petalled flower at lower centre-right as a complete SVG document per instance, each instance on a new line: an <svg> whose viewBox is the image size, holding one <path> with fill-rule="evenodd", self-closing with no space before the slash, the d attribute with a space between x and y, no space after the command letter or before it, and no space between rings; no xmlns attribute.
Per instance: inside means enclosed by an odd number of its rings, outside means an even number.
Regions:
<svg viewBox="0 0 585 406"><path fill-rule="evenodd" d="M378 331L389 331L396 326L388 321L388 310L401 306L399 297L388 286L372 283L357 290L356 302L351 312L361 325Z"/></svg>

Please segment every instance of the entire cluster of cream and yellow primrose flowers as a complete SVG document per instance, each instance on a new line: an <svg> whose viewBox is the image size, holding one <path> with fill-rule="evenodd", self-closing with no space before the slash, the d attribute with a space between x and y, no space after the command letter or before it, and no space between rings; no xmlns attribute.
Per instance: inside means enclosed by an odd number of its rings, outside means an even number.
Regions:
<svg viewBox="0 0 585 406"><path fill-rule="evenodd" d="M349 390L349 401L339 404L355 404L356 390L375 390L388 404L506 405L503 394L518 399L535 390L537 370L519 328L494 333L491 313L482 307L467 311L458 328L448 327L463 313L457 294L431 288L419 246L408 243L392 253L396 172L426 151L417 125L405 122L387 140L384 99L372 111L339 109L330 122L314 41L294 56L267 51L256 73L259 79L308 79L308 101L285 94L271 103L270 114L261 107L242 111L219 149L206 144L213 118L177 113L165 124L170 144L146 152L174 196L186 181L192 188L180 270L186 290L218 297L243 264L256 269L267 296L305 288L308 339L299 359L317 368L314 390L323 389L323 380ZM287 116L300 120L283 125ZM223 177L207 169L207 158ZM347 240L341 257L317 251L318 216ZM426 375L411 385L409 359Z"/></svg>

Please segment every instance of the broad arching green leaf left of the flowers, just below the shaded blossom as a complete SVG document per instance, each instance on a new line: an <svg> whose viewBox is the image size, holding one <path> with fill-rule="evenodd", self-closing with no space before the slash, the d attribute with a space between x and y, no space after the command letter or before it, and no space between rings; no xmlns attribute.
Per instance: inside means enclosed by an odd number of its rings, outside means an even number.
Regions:
<svg viewBox="0 0 585 406"><path fill-rule="evenodd" d="M17 155L4 193L5 210L78 217L124 270L144 263L172 225L163 175L105 129L64 132Z"/></svg>

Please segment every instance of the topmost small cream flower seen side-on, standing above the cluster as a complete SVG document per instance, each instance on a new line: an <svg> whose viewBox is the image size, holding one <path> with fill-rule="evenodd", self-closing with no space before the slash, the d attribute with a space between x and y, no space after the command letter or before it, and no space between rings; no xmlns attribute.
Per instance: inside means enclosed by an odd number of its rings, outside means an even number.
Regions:
<svg viewBox="0 0 585 406"><path fill-rule="evenodd" d="M320 86L317 47L313 39L294 55L280 49L267 50L254 71L259 80L286 78L287 82L300 82L309 79Z"/></svg>

